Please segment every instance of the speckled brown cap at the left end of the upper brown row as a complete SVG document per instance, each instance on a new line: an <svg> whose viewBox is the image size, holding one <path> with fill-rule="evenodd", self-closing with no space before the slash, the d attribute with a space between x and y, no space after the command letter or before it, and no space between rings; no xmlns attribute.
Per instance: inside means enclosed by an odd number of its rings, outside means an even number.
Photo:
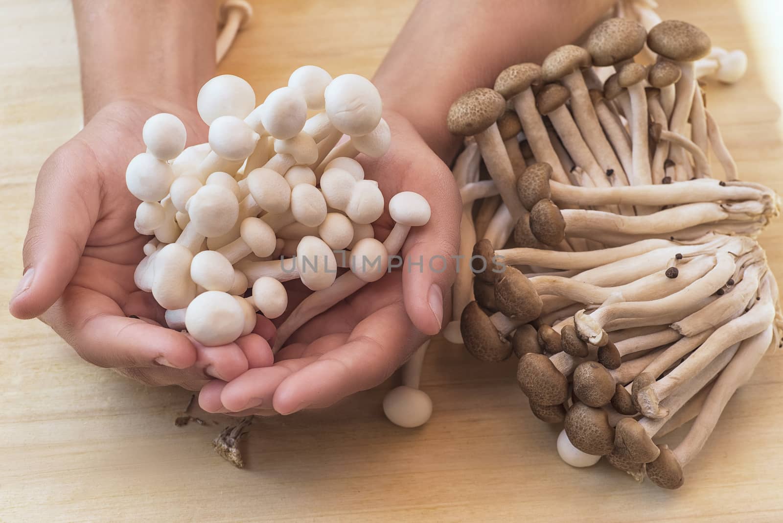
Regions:
<svg viewBox="0 0 783 523"><path fill-rule="evenodd" d="M493 89L479 87L460 96L449 107L449 132L473 136L489 128L506 110L506 100Z"/></svg>

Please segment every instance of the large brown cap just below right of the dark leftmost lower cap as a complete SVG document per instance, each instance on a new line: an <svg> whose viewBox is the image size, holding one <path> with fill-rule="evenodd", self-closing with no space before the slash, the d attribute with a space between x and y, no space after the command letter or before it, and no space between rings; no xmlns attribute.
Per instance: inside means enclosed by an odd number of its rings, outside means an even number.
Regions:
<svg viewBox="0 0 783 523"><path fill-rule="evenodd" d="M522 355L517 381L530 401L539 405L562 405L568 399L568 378L543 354Z"/></svg>

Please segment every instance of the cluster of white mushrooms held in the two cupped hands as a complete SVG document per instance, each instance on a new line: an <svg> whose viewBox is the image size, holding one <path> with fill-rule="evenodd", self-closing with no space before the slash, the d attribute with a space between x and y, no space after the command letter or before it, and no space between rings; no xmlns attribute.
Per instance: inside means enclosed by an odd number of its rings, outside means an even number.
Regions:
<svg viewBox="0 0 783 523"><path fill-rule="evenodd" d="M226 74L201 88L197 108L209 142L185 148L182 121L157 114L126 182L142 200L135 229L153 235L135 283L166 309L168 326L201 344L251 333L256 311L282 316L283 282L299 279L314 292L288 311L279 350L299 326L381 278L410 228L429 220L423 197L398 193L388 201L394 228L374 238L386 202L355 157L381 157L391 133L366 78L300 67L256 106L251 86Z"/></svg>

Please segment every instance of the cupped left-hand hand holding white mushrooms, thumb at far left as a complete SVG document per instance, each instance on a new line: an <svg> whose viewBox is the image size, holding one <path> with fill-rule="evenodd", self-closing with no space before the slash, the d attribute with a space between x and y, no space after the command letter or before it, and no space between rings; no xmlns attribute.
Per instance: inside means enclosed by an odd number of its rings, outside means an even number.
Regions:
<svg viewBox="0 0 783 523"><path fill-rule="evenodd" d="M21 319L39 317L88 362L145 384L198 389L211 378L231 380L269 365L274 327L259 316L254 334L206 348L161 326L164 309L135 287L135 265L150 236L134 229L139 200L125 186L125 168L145 150L144 122L160 112L183 121L188 145L204 141L207 128L193 110L121 101L99 110L45 162L10 310Z"/></svg>

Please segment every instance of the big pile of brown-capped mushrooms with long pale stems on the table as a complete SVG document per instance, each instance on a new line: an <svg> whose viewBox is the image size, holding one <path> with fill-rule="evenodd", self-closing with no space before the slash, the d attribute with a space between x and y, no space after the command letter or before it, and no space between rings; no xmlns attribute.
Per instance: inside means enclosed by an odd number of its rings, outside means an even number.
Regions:
<svg viewBox="0 0 783 523"><path fill-rule="evenodd" d="M738 180L696 73L713 56L689 23L615 16L448 117L466 140L447 339L482 361L519 358L532 413L564 424L567 463L606 456L669 489L780 343L778 286L753 239L778 196ZM657 443L694 418L676 448Z"/></svg>

